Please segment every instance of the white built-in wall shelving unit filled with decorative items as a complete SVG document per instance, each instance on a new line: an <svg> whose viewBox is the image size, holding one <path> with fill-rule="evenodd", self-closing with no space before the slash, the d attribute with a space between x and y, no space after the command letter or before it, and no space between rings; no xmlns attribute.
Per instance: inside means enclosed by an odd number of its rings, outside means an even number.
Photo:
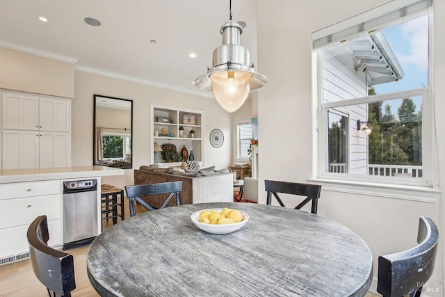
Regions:
<svg viewBox="0 0 445 297"><path fill-rule="evenodd" d="M176 146L177 152L181 152L186 145L188 154L193 150L195 161L204 163L204 141L202 140L204 112L160 104L151 104L150 109L150 163L154 163L154 143L161 146L164 143L172 143ZM180 127L184 128L182 135ZM162 133L163 129L165 129L165 135ZM195 132L193 137L189 135L191 130ZM180 165L180 162L165 163L163 160L159 163L167 166Z"/></svg>

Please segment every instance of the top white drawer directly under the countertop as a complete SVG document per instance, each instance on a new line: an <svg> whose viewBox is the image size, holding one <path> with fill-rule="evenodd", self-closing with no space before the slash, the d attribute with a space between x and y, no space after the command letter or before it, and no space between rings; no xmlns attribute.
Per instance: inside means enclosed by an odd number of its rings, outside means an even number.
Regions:
<svg viewBox="0 0 445 297"><path fill-rule="evenodd" d="M62 184L58 180L2 184L0 185L0 200L60 194L61 188Z"/></svg>

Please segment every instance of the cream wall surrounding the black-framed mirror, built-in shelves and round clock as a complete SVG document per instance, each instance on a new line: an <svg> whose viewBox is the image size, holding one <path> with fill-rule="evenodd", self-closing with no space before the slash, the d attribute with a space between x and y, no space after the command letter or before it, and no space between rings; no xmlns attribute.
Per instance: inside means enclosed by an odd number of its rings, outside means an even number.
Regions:
<svg viewBox="0 0 445 297"><path fill-rule="evenodd" d="M204 111L205 166L228 168L232 139L226 137L222 147L210 145L209 134L218 128L225 136L232 132L232 115L220 108L215 99L173 90L146 86L110 77L76 71L75 98L72 102L72 166L92 165L93 95L133 100L133 169L149 165L150 103L182 106ZM123 187L133 184L133 169L125 169L124 177L104 177L103 183Z"/></svg>

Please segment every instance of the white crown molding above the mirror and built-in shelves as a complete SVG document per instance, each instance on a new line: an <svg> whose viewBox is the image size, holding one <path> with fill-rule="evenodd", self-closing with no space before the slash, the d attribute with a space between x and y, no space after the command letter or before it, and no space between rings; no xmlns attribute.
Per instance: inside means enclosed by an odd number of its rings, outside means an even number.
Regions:
<svg viewBox="0 0 445 297"><path fill-rule="evenodd" d="M74 70L80 71L80 72L87 72L90 74L97 74L102 77L111 77L112 79L120 79L122 81L130 81L132 83L140 83L140 84L143 84L146 86L153 86L156 88L164 88L167 90L175 90L175 91L178 91L181 93L188 93L191 95L213 98L213 96L209 92L203 92L200 90L193 91L193 90L188 90L187 88L178 88L177 86L173 86L168 83L159 83L157 81L149 81L147 79L138 79L136 77L129 77L127 75L118 74L115 72L108 72L108 71L100 70L97 68L75 65Z"/></svg>

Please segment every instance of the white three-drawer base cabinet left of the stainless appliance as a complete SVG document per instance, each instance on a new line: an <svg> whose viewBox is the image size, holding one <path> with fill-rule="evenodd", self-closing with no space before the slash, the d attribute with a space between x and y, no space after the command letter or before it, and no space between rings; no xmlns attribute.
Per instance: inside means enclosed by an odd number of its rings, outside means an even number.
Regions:
<svg viewBox="0 0 445 297"><path fill-rule="evenodd" d="M49 246L62 244L59 180L1 184L0 193L0 263L9 262L9 257L27 256L26 231L38 216L48 218Z"/></svg>

